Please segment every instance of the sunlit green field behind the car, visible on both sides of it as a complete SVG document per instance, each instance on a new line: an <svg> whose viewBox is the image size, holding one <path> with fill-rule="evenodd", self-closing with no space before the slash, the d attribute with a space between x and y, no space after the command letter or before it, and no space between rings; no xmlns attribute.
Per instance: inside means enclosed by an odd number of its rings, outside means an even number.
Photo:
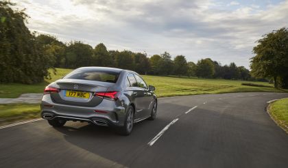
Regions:
<svg viewBox="0 0 288 168"><path fill-rule="evenodd" d="M56 68L56 74L53 74L50 80L34 85L23 85L18 83L0 84L0 98L17 98L25 93L42 93L48 83L60 79L64 74L71 72L70 69ZM273 87L255 87L245 86L241 83L247 81L232 81L224 79L197 79L178 76L149 76L143 75L148 85L156 87L156 95L164 96L182 96L193 94L220 94L228 92L283 92ZM272 86L264 82L249 82L259 85Z"/></svg>

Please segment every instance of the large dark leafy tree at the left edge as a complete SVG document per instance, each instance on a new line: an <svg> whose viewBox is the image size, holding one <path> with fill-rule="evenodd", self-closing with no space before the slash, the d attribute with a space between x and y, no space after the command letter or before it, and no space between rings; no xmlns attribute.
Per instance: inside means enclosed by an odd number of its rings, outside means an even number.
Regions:
<svg viewBox="0 0 288 168"><path fill-rule="evenodd" d="M38 83L49 76L49 57L25 26L24 10L0 1L0 82Z"/></svg>

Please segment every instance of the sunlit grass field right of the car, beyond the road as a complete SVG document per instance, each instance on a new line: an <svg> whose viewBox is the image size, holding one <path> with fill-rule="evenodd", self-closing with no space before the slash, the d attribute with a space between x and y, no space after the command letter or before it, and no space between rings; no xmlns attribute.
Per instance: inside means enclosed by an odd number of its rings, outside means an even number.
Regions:
<svg viewBox="0 0 288 168"><path fill-rule="evenodd" d="M176 76L143 76L148 85L156 87L156 95L183 96L193 94L221 94L229 92L282 92L274 89L271 84L251 82L264 87L241 85L244 81L225 79L195 79Z"/></svg>

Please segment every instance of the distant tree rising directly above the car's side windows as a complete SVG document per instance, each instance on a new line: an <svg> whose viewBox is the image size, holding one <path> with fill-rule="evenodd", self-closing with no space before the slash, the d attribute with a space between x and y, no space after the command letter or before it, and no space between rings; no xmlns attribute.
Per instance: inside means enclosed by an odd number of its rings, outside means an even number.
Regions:
<svg viewBox="0 0 288 168"><path fill-rule="evenodd" d="M135 60L135 71L139 74L147 74L150 70L149 59L147 58L146 53L136 53L134 54Z"/></svg>

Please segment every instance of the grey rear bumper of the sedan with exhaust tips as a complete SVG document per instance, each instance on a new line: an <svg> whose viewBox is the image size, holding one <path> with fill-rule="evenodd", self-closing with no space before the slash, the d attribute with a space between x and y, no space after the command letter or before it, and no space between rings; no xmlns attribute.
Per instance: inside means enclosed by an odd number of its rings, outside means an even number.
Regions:
<svg viewBox="0 0 288 168"><path fill-rule="evenodd" d="M41 102L41 117L46 120L59 118L67 121L90 122L99 126L123 126L125 107L117 106L116 102L106 99L97 107L56 104L47 94L43 96Z"/></svg>

